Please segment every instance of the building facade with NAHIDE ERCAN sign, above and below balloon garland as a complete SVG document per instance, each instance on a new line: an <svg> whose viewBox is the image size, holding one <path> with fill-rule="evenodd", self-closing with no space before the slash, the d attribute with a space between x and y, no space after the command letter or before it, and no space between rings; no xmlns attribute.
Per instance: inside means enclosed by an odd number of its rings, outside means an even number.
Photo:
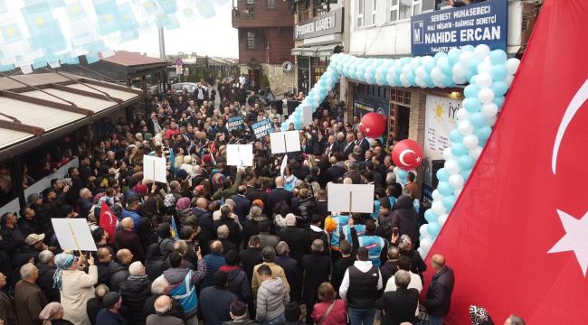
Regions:
<svg viewBox="0 0 588 325"><path fill-rule="evenodd" d="M346 0L345 10L351 16L346 52L356 57L395 59L434 55L435 51L483 42L512 57L524 51L539 8L536 0L487 0L459 8L441 0ZM479 13L489 14L482 17ZM461 31L467 28L470 31ZM436 43L448 44L433 46ZM426 196L436 185L434 174L442 166L440 148L449 144L463 88L390 88L346 79L347 117L351 120L351 116L378 112L388 121L389 144L406 138L421 144L426 163L418 176L425 184Z"/></svg>

